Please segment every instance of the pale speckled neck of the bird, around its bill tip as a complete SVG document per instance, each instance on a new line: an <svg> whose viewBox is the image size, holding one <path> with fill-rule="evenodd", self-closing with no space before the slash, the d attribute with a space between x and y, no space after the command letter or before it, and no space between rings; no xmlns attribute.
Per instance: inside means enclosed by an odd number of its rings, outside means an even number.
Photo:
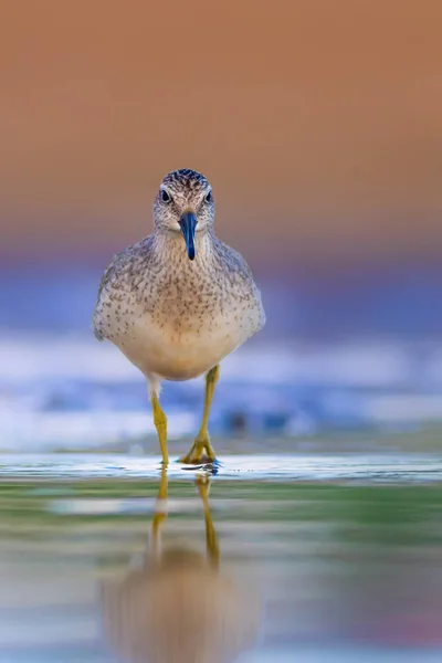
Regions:
<svg viewBox="0 0 442 663"><path fill-rule="evenodd" d="M171 261L175 264L190 263L186 251L185 238L180 232L156 229L154 232L155 252L161 261ZM210 261L213 255L214 234L211 229L204 229L194 234L194 262Z"/></svg>

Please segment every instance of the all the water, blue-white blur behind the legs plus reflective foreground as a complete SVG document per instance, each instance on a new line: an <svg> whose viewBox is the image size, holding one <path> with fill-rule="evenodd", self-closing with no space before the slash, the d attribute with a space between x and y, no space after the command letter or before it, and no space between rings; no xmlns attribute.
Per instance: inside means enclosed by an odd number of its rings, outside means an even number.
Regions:
<svg viewBox="0 0 442 663"><path fill-rule="evenodd" d="M0 663L442 660L441 358L251 345L166 477L115 348L0 338ZM162 402L173 459L201 381Z"/></svg>

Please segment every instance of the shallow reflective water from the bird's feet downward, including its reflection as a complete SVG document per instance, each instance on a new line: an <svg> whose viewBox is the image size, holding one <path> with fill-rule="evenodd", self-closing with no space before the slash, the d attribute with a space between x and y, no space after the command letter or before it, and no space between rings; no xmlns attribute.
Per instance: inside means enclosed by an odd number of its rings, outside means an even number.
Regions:
<svg viewBox="0 0 442 663"><path fill-rule="evenodd" d="M206 645L441 660L440 456L243 454L166 477L158 457L3 455L0 476L1 663L144 661L152 642L164 663Z"/></svg>

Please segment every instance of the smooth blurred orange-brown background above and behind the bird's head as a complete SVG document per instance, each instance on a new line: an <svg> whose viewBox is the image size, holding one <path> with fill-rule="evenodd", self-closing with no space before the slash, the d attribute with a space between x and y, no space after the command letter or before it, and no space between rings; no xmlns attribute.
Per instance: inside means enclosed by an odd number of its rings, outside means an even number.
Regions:
<svg viewBox="0 0 442 663"><path fill-rule="evenodd" d="M181 167L252 263L441 255L439 0L4 0L0 25L2 255L107 256Z"/></svg>

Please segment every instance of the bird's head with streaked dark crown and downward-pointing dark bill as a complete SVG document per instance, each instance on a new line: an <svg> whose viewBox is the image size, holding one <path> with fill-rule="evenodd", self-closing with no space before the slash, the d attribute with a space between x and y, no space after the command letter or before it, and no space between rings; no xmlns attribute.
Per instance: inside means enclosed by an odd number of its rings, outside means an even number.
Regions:
<svg viewBox="0 0 442 663"><path fill-rule="evenodd" d="M194 259L194 234L211 228L213 217L212 188L203 175L183 168L164 178L154 204L155 227L181 233L190 260Z"/></svg>

